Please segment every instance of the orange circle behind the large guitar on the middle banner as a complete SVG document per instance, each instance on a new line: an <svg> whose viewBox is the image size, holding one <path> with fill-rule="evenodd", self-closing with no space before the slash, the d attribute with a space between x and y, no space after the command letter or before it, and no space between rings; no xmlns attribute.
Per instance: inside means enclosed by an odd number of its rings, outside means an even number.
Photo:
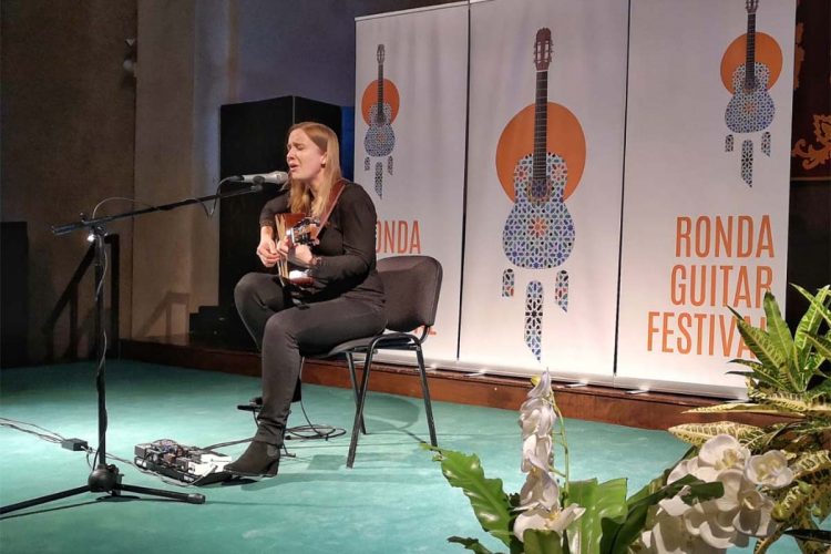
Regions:
<svg viewBox="0 0 831 554"><path fill-rule="evenodd" d="M564 198L577 188L586 165L586 137L577 117L565 106L548 102L545 148L558 154L568 168ZM511 202L516 202L514 167L534 152L534 104L525 106L505 125L496 144L496 176Z"/></svg>

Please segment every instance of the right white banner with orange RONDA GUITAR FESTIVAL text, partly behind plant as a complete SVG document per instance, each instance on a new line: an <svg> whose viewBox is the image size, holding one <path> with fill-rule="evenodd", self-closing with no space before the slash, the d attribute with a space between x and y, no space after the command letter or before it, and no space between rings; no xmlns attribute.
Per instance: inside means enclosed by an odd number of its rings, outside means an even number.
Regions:
<svg viewBox="0 0 831 554"><path fill-rule="evenodd" d="M753 3L632 2L617 375L644 387L738 391L726 306L783 306L794 3Z"/></svg>

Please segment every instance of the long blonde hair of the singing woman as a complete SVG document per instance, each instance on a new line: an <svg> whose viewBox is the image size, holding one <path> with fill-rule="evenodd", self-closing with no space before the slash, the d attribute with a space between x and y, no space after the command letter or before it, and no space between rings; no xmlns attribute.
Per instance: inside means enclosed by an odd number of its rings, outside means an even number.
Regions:
<svg viewBox="0 0 831 554"><path fill-rule="evenodd" d="M289 209L296 214L309 214L312 217L321 217L329 203L329 194L332 185L341 178L338 135L322 123L311 121L304 121L291 125L288 134L290 135L296 130L306 133L311 142L321 152L327 154L327 156L326 165L322 168L324 182L316 196L312 197L311 191L301 182L289 179L289 186L291 187L289 193Z"/></svg>

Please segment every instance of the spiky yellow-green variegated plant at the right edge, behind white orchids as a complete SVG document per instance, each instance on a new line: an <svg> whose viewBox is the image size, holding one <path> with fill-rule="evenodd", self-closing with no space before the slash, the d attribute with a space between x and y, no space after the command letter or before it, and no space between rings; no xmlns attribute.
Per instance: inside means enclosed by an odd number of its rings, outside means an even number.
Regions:
<svg viewBox="0 0 831 554"><path fill-rule="evenodd" d="M831 512L831 291L815 295L796 286L810 305L793 334L773 295L765 295L767 329L749 325L736 310L739 332L755 360L731 360L747 381L748 401L690 410L698 413L767 413L787 418L766 427L730 421L689 423L669 429L697 447L720 433L736 438L751 453L786 453L793 481L772 494L776 530L759 542L765 552L788 530L817 530ZM823 331L824 328L824 331ZM828 546L798 538L803 552Z"/></svg>

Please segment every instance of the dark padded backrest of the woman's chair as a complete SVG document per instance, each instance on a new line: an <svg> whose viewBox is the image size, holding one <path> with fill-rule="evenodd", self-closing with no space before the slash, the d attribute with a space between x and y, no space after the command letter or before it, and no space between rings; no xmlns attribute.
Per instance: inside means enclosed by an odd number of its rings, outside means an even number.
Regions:
<svg viewBox="0 0 831 554"><path fill-rule="evenodd" d="M430 256L392 256L378 260L387 296L387 329L410 332L431 327L441 291L441 264Z"/></svg>

